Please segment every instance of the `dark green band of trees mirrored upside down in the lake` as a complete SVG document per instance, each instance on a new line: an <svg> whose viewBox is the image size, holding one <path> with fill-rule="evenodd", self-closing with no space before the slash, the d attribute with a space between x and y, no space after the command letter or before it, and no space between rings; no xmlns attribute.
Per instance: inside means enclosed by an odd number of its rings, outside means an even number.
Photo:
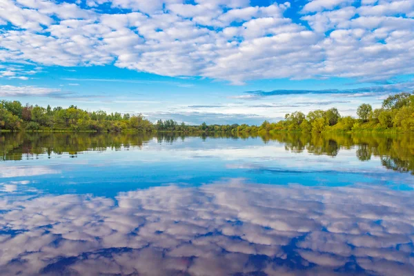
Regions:
<svg viewBox="0 0 414 276"><path fill-rule="evenodd" d="M19 132L0 134L0 160L21 160L37 158L37 155L64 153L76 156L87 150L120 150L132 146L141 148L152 139L159 143L173 144L189 137L203 140L251 139L257 136L247 134L235 136L229 133L204 135L177 135L172 132L150 134L134 133L90 133L90 132ZM264 143L278 141L291 152L309 152L313 155L336 157L340 150L357 148L360 161L368 161L372 156L380 157L382 165L388 169L414 174L414 135L375 135L375 134L321 134L301 132L277 132L260 136Z"/></svg>

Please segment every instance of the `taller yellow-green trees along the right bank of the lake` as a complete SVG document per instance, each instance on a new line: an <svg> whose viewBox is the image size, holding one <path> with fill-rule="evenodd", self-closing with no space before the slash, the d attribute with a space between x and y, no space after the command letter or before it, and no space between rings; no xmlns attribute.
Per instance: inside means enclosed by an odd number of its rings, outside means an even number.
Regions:
<svg viewBox="0 0 414 276"><path fill-rule="evenodd" d="M357 116L341 116L337 108L314 110L308 115L297 111L286 114L284 120L276 123L264 121L259 132L413 132L414 95L407 92L391 95L375 110L370 104L362 103L357 108Z"/></svg>

